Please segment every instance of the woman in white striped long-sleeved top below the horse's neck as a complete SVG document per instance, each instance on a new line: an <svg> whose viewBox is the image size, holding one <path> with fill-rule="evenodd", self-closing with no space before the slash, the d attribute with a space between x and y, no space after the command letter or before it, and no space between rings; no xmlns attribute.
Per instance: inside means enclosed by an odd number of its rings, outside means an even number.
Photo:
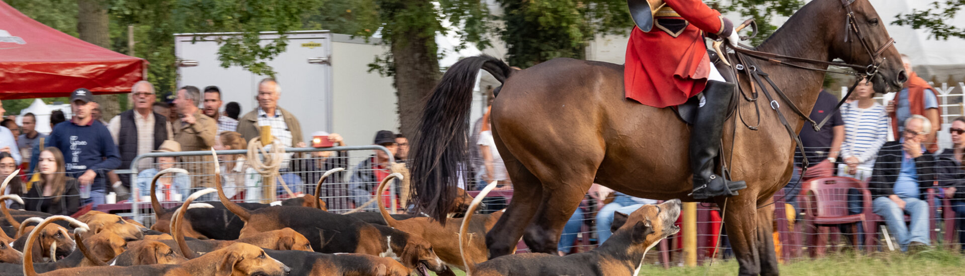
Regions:
<svg viewBox="0 0 965 276"><path fill-rule="evenodd" d="M847 164L847 174L874 167L878 149L888 138L888 117L885 108L872 97L874 89L868 79L854 88L856 101L841 106L844 120L844 143L841 156ZM870 176L870 175L868 175Z"/></svg>

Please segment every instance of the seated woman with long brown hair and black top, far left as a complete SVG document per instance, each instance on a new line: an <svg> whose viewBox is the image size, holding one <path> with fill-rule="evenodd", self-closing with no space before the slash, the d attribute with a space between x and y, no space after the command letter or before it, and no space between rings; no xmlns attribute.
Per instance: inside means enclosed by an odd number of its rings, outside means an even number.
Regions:
<svg viewBox="0 0 965 276"><path fill-rule="evenodd" d="M37 163L40 180L27 189L23 197L24 210L50 214L71 215L80 209L80 186L77 179L67 175L64 154L56 147L41 151Z"/></svg>

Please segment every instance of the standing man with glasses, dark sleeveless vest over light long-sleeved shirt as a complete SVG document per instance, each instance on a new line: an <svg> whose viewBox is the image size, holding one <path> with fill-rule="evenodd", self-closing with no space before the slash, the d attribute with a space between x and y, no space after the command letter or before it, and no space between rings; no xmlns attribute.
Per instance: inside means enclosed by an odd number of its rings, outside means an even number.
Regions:
<svg viewBox="0 0 965 276"><path fill-rule="evenodd" d="M138 155L151 153L167 139L173 139L171 123L163 114L154 113L154 86L148 81L140 81L130 88L129 102L134 109L121 113L108 123L108 130L121 153L121 169L130 168L130 163ZM137 169L151 168L152 159L142 159ZM130 188L130 175L123 174L121 182Z"/></svg>

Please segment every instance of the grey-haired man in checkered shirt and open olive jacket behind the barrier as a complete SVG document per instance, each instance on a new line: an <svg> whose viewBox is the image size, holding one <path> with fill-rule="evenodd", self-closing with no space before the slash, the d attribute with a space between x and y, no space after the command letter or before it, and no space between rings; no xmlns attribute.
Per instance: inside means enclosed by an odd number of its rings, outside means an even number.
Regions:
<svg viewBox="0 0 965 276"><path fill-rule="evenodd" d="M301 124L294 115L278 107L278 98L282 88L278 81L272 78L262 79L258 83L258 108L244 114L238 119L237 132L246 141L262 135L261 126L271 126L271 136L277 138L287 147L305 147L302 140ZM290 155L281 164L283 170L288 169Z"/></svg>

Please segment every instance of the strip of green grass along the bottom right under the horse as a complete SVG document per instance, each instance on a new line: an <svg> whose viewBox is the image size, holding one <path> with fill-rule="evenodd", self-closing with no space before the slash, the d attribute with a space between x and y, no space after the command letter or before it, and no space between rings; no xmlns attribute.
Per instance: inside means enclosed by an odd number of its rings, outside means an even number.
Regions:
<svg viewBox="0 0 965 276"><path fill-rule="evenodd" d="M901 253L875 253L872 255L829 255L818 260L792 262L781 265L781 275L790 276L891 276L891 275L965 275L963 256L942 250L923 251L911 255ZM704 274L706 273L706 274ZM464 275L456 271L456 275ZM716 262L709 267L671 267L645 265L641 276L674 275L736 275L737 263Z"/></svg>

